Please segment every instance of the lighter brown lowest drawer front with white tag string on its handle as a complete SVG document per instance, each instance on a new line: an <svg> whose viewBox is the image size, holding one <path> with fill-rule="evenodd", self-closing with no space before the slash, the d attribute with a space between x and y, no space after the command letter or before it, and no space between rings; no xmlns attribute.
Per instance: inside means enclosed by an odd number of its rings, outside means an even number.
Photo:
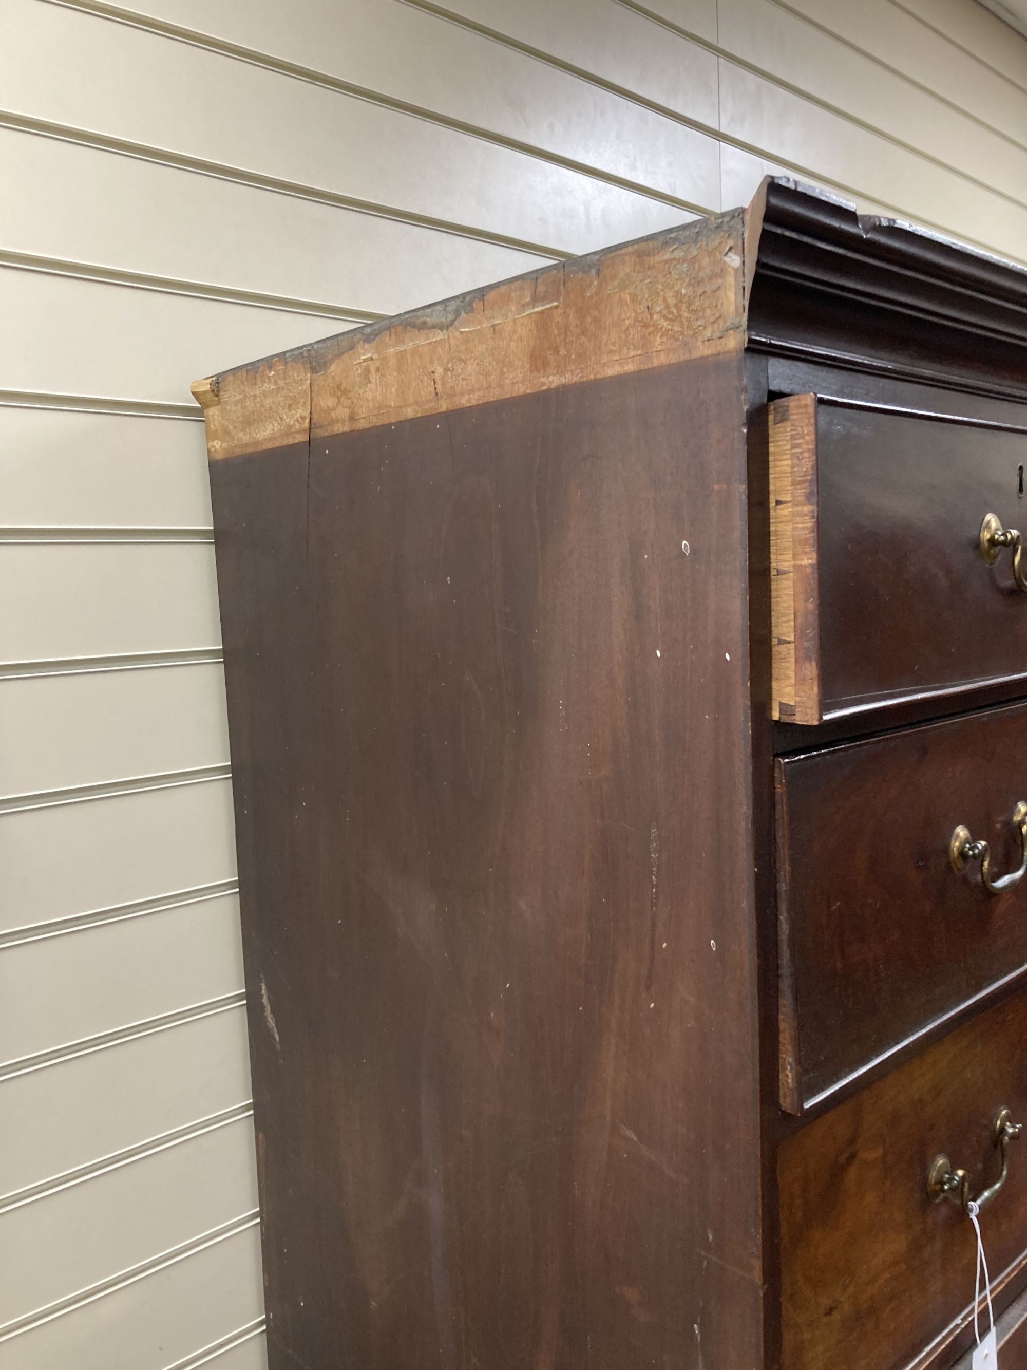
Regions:
<svg viewBox="0 0 1027 1370"><path fill-rule="evenodd" d="M1027 1119L1027 995L782 1144L783 1370L900 1370L931 1349L942 1365L959 1356L976 1243L956 1200L931 1201L927 1174L945 1154L967 1170L971 1195L994 1184L1004 1107ZM1005 1185L980 1221L998 1308L1027 1273L1027 1132L1008 1154Z"/></svg>

